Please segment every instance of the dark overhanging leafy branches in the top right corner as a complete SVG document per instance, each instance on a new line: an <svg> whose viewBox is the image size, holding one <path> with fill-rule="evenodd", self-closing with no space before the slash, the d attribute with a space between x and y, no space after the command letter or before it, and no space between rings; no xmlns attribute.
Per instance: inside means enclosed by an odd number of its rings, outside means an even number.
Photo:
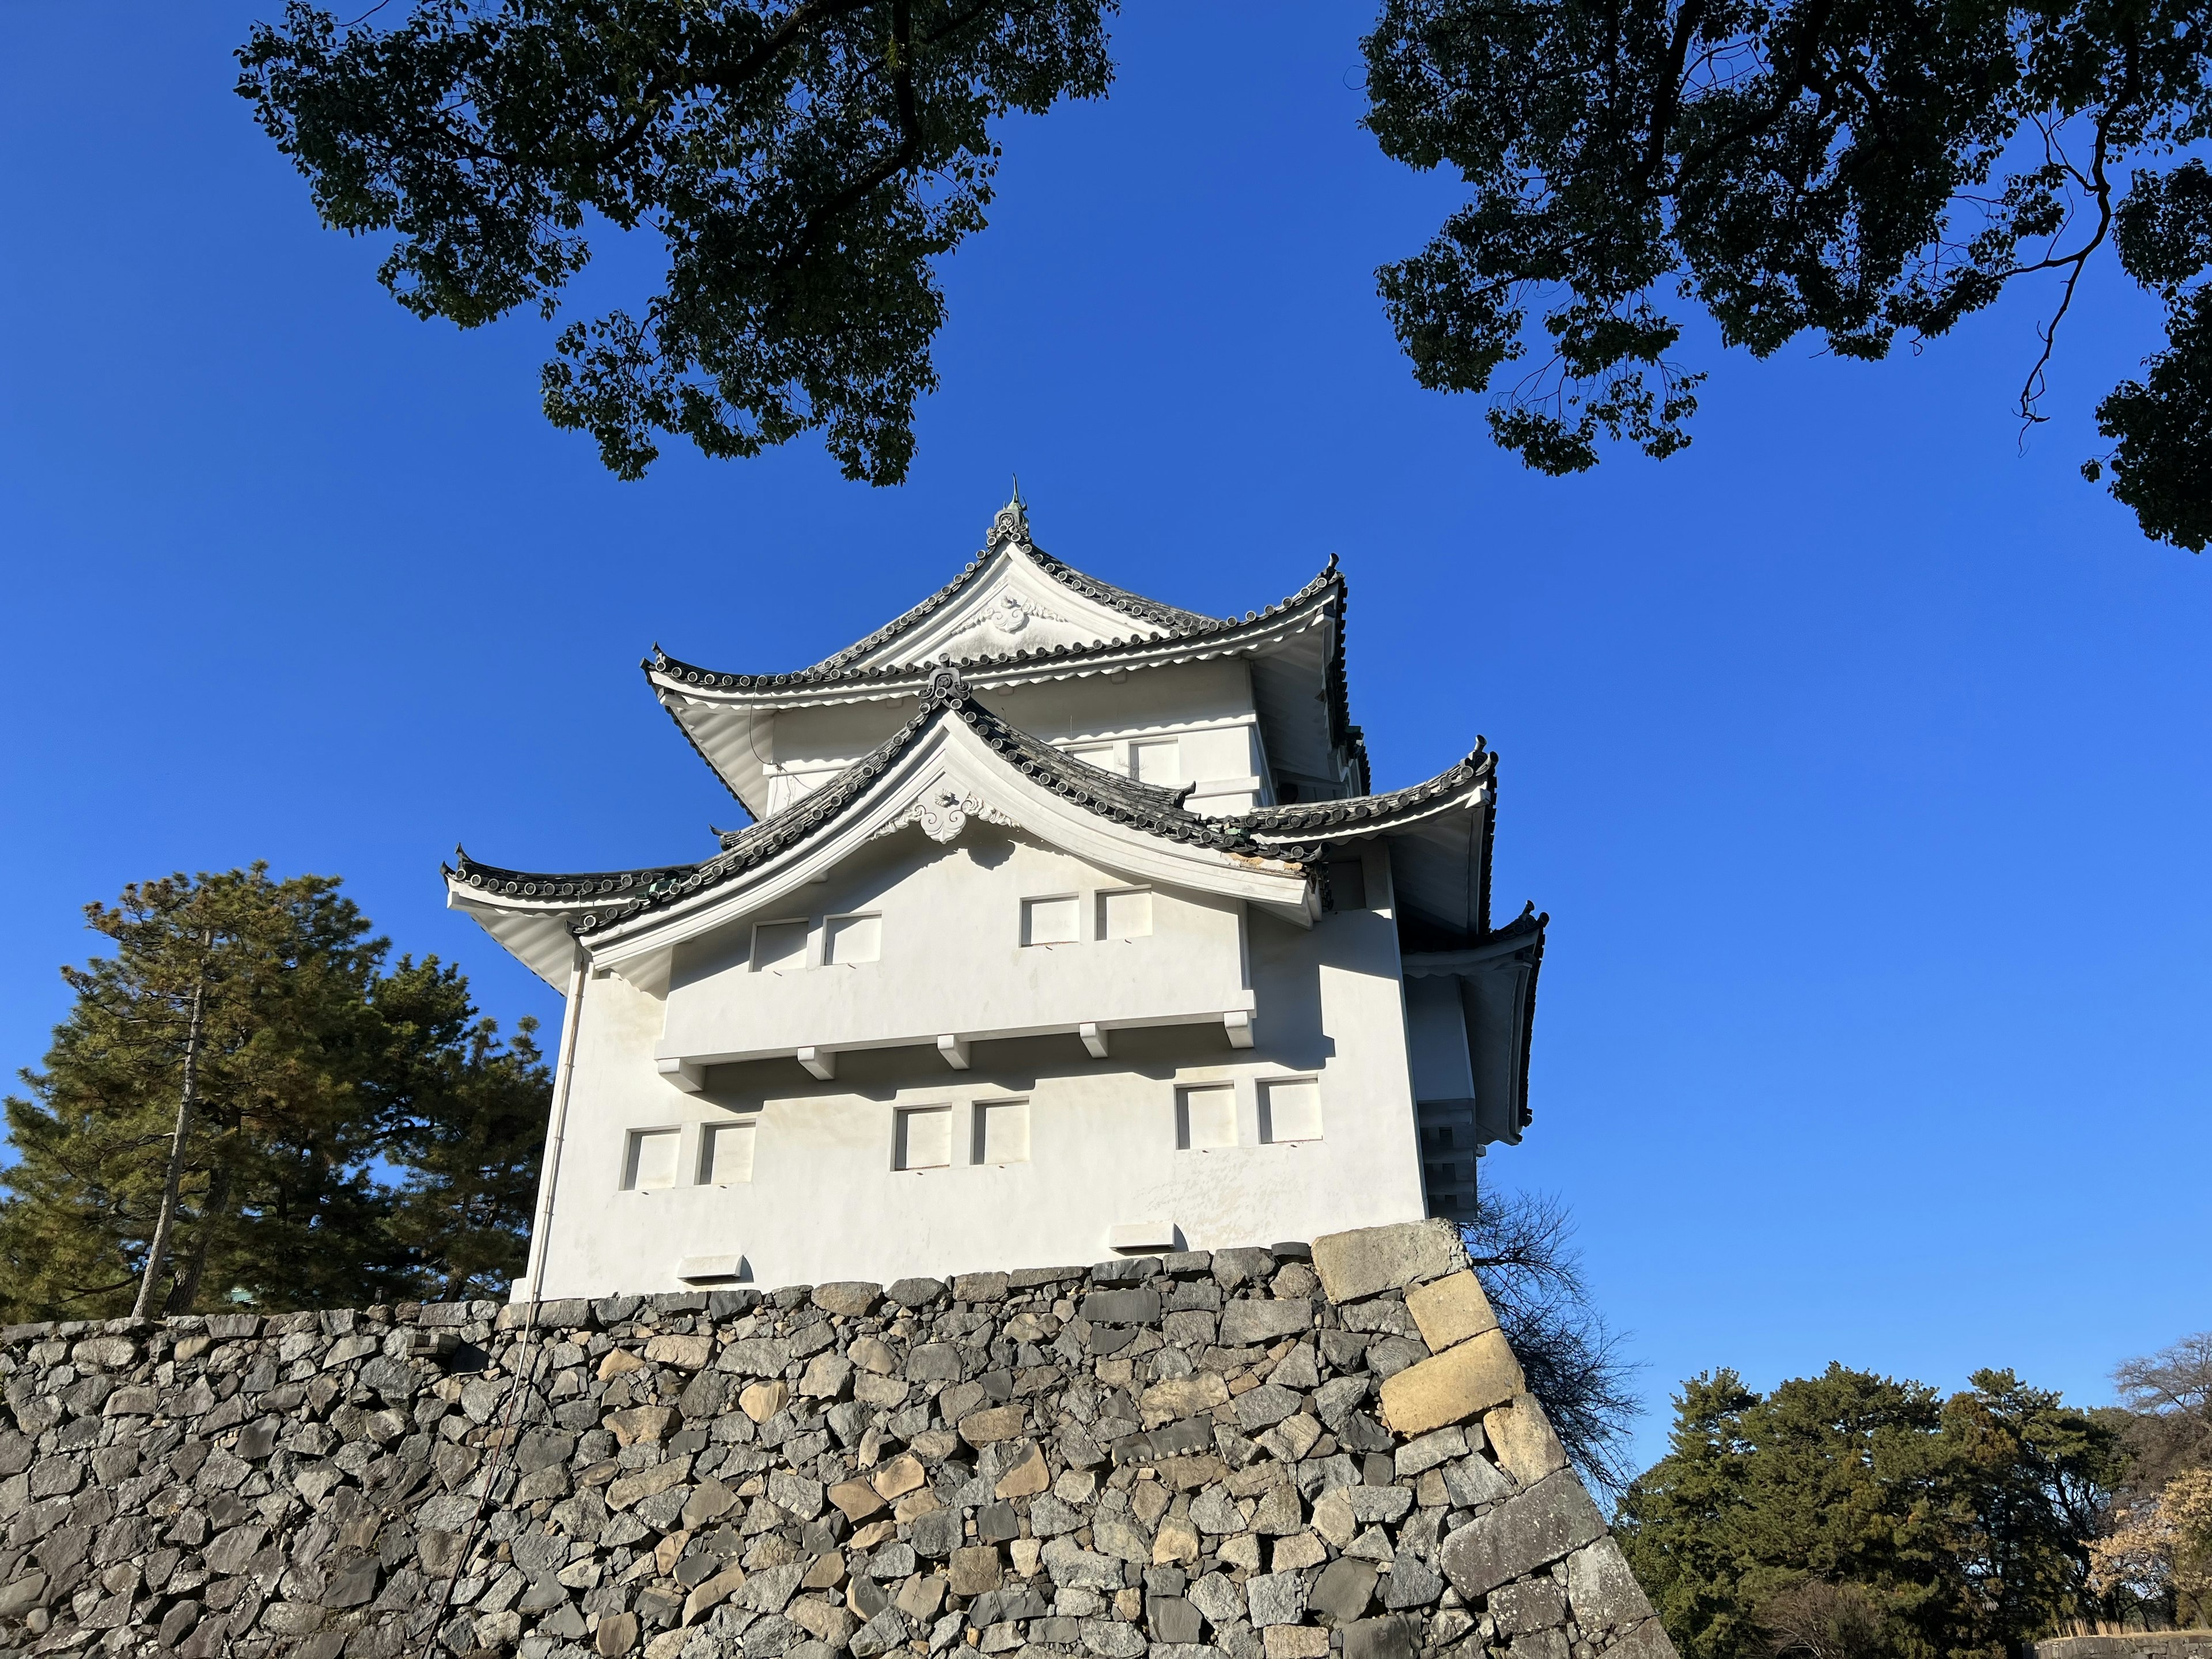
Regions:
<svg viewBox="0 0 2212 1659"><path fill-rule="evenodd" d="M1564 473L1599 438L1688 442L1701 376L1668 356L1668 296L1756 356L1809 332L1880 358L2046 274L2020 394L2039 420L2051 336L2117 228L2170 343L2099 405L2112 493L2199 551L2212 204L2201 164L2159 164L2212 135L2208 27L2190 0L1385 0L1367 126L1471 199L1383 268L1383 299L1429 387L1489 392L1548 336L1491 425Z"/></svg>

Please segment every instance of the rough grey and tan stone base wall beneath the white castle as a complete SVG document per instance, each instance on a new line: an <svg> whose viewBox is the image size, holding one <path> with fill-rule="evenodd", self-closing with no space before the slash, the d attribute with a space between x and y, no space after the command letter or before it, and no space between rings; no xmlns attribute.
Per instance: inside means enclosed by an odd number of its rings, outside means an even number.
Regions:
<svg viewBox="0 0 2212 1659"><path fill-rule="evenodd" d="M1444 1223L0 1371L7 1650L1672 1659Z"/></svg>

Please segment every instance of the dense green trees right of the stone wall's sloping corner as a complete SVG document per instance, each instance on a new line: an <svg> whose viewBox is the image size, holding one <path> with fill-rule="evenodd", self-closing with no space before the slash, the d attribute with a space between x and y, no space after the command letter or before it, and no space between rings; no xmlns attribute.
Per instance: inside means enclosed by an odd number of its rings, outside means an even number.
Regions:
<svg viewBox="0 0 2212 1659"><path fill-rule="evenodd" d="M2110 1429L2008 1371L1692 1378L1619 1537L1683 1659L2000 1659L2081 1610Z"/></svg>

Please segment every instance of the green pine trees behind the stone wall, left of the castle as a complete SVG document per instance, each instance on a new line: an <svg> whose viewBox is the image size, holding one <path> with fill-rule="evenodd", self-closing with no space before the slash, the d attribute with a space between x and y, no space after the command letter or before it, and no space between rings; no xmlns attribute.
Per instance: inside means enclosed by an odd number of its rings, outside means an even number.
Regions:
<svg viewBox="0 0 2212 1659"><path fill-rule="evenodd" d="M520 1270L549 1097L529 1022L502 1046L451 967L385 973L327 876L179 874L86 918L115 951L64 969L75 1006L7 1102L7 1318L131 1310L201 982L170 1312L232 1287L263 1307L487 1292Z"/></svg>

